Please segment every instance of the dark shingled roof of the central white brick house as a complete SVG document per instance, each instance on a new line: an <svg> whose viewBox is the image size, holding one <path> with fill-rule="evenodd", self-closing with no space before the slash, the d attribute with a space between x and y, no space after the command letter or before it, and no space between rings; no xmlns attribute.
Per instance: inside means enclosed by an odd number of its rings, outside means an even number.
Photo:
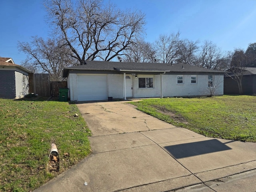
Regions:
<svg viewBox="0 0 256 192"><path fill-rule="evenodd" d="M85 61L84 65L64 68L63 76L68 76L68 70L112 70L119 72L213 72L224 71L211 70L188 64L170 63L136 63L136 62L108 62L108 61Z"/></svg>

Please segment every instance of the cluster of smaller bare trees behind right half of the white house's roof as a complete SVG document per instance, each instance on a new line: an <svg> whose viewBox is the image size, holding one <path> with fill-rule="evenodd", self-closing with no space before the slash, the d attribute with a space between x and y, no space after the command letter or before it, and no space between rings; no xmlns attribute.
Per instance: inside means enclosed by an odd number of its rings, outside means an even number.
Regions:
<svg viewBox="0 0 256 192"><path fill-rule="evenodd" d="M208 69L224 70L228 60L220 48L211 41L198 46L199 41L180 39L180 33L160 35L155 42L156 58L163 63L181 63Z"/></svg>

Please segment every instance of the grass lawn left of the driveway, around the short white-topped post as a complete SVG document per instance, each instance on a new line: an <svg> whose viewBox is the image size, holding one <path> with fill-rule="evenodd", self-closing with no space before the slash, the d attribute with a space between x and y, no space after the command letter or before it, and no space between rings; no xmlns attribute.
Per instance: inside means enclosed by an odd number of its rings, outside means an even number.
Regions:
<svg viewBox="0 0 256 192"><path fill-rule="evenodd" d="M91 133L75 104L0 99L0 124L0 191L32 191L90 154ZM48 170L52 143L58 172Z"/></svg>

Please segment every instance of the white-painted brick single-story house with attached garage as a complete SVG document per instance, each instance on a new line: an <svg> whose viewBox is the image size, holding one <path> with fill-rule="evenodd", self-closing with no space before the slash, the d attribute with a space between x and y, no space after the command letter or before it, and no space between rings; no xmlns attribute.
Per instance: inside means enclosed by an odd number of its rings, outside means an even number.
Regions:
<svg viewBox="0 0 256 192"><path fill-rule="evenodd" d="M224 72L186 64L85 61L64 68L72 101L223 95Z"/></svg>

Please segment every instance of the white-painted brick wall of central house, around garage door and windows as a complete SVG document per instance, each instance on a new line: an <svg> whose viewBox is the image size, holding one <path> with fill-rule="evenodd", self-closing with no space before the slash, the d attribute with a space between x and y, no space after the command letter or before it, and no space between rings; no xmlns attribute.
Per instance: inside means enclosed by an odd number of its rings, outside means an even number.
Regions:
<svg viewBox="0 0 256 192"><path fill-rule="evenodd" d="M182 74L180 74L182 75ZM183 84L177 83L176 74L163 75L163 96L175 97L175 96L208 96L210 91L208 88L208 74L197 75L196 84L191 84L191 75L183 75ZM138 74L138 78L133 78L133 91L134 98L149 98L161 96L161 75L142 75ZM154 88L139 88L139 78L153 77ZM223 95L223 75L214 75L213 83L218 83L218 87L215 91L216 95ZM123 74L108 74L108 96L113 98L124 98L124 75ZM68 76L68 88L70 88L70 100L78 100L77 90L77 74L70 73Z"/></svg>

